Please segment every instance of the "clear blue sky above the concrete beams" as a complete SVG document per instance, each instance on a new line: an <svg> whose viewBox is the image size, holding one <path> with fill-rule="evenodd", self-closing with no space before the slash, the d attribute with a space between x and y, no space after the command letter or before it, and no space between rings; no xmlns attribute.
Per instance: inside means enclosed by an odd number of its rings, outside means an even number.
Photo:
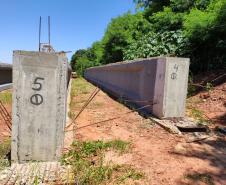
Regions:
<svg viewBox="0 0 226 185"><path fill-rule="evenodd" d="M39 17L41 42L56 51L87 48L104 35L112 18L135 11L133 0L0 0L0 61L12 63L13 50L38 50Z"/></svg>

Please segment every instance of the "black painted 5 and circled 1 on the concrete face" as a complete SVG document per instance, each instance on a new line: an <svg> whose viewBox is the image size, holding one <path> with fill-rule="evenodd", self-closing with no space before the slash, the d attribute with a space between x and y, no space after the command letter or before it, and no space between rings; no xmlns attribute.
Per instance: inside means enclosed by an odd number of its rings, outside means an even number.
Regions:
<svg viewBox="0 0 226 185"><path fill-rule="evenodd" d="M34 87L32 88L34 91L41 91L42 90L42 81L45 80L44 78L40 78L40 77L37 77L35 78L34 80ZM41 94L34 94L31 96L30 98L30 102L31 104L33 105L41 105L43 103L43 97Z"/></svg>

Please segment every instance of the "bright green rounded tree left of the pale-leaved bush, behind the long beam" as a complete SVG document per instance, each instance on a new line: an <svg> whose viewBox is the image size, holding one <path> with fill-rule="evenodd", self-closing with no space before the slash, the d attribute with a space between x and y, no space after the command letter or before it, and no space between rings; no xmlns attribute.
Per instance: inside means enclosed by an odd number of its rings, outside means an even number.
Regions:
<svg viewBox="0 0 226 185"><path fill-rule="evenodd" d="M103 63L113 63L123 60L123 49L138 40L150 30L150 24L142 13L124 14L112 19L102 40L104 46Z"/></svg>

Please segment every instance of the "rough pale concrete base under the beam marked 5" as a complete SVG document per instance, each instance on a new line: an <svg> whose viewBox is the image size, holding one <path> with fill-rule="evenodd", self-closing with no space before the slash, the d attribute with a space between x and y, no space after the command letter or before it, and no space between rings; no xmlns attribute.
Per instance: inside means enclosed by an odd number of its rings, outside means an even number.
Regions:
<svg viewBox="0 0 226 185"><path fill-rule="evenodd" d="M0 184L67 184L68 174L71 173L70 166L61 166L59 162L12 164L0 172Z"/></svg>

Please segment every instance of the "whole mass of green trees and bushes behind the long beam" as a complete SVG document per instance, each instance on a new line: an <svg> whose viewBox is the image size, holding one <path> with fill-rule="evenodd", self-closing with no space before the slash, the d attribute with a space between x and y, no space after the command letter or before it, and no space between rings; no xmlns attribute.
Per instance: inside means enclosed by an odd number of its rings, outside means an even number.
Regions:
<svg viewBox="0 0 226 185"><path fill-rule="evenodd" d="M226 0L134 3L137 13L112 19L100 41L75 52L73 70L153 56L189 57L192 74L226 67Z"/></svg>

